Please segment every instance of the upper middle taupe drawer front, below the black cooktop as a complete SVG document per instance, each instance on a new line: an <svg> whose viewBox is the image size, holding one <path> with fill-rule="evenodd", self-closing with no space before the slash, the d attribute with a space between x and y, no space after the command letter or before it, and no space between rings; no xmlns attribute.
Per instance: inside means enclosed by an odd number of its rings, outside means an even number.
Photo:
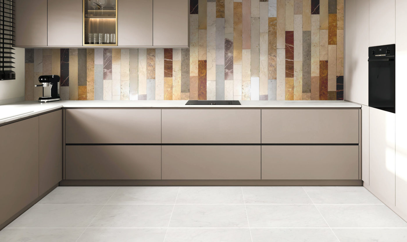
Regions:
<svg viewBox="0 0 407 242"><path fill-rule="evenodd" d="M162 143L260 143L260 109L163 109Z"/></svg>

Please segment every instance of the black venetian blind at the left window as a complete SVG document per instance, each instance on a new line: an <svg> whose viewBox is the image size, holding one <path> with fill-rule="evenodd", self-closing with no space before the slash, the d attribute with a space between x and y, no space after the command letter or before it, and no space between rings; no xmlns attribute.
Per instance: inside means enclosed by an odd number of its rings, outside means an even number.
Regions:
<svg viewBox="0 0 407 242"><path fill-rule="evenodd" d="M14 80L15 72L12 66L14 53L13 46L13 20L14 0L0 0L0 80Z"/></svg>

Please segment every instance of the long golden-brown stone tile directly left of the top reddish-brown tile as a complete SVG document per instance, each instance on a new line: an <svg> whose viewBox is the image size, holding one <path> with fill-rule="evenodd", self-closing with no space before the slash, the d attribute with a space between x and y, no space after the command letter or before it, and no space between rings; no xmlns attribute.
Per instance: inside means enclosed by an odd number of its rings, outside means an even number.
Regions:
<svg viewBox="0 0 407 242"><path fill-rule="evenodd" d="M242 3L233 2L233 65L242 64Z"/></svg>

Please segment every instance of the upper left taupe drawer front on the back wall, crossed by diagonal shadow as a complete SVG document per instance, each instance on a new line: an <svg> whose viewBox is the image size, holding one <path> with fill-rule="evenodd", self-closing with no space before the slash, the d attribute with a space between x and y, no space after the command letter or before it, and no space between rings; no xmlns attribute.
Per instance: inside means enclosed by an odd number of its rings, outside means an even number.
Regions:
<svg viewBox="0 0 407 242"><path fill-rule="evenodd" d="M66 143L161 143L160 109L68 109Z"/></svg>

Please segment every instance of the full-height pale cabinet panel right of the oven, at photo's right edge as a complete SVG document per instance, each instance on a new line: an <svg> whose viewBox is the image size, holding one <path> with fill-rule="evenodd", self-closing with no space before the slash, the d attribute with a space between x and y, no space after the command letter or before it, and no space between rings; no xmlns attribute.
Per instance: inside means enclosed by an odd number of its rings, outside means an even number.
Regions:
<svg viewBox="0 0 407 242"><path fill-rule="evenodd" d="M396 0L396 212L407 220L406 0Z"/></svg>

